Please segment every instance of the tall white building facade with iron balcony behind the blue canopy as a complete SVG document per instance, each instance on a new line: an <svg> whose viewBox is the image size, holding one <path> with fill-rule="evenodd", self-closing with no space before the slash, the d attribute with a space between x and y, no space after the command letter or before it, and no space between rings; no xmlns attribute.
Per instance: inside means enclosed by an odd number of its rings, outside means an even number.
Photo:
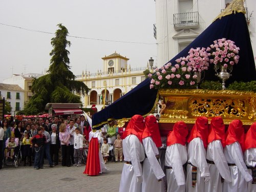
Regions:
<svg viewBox="0 0 256 192"><path fill-rule="evenodd" d="M155 0L157 66L163 66L199 36L231 0ZM256 1L244 1L254 58L256 57Z"/></svg>

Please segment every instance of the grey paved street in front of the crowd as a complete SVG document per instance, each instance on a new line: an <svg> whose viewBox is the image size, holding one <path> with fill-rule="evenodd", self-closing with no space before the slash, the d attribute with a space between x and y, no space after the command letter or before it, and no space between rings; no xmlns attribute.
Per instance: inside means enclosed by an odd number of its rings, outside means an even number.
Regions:
<svg viewBox="0 0 256 192"><path fill-rule="evenodd" d="M108 173L90 177L83 174L85 165L81 167L62 167L61 165L35 170L33 166L7 165L0 169L0 189L11 191L104 191L115 192L119 189L123 163L108 162Z"/></svg>

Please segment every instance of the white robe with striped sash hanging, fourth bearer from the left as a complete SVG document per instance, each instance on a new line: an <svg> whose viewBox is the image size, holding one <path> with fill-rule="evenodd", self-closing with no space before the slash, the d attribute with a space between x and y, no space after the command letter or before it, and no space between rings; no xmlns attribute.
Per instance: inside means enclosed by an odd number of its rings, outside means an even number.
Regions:
<svg viewBox="0 0 256 192"><path fill-rule="evenodd" d="M206 162L206 151L202 139L191 140L187 145L187 162L197 167L196 186L192 187L192 165L187 164L186 191L204 191L204 178L210 177Z"/></svg>

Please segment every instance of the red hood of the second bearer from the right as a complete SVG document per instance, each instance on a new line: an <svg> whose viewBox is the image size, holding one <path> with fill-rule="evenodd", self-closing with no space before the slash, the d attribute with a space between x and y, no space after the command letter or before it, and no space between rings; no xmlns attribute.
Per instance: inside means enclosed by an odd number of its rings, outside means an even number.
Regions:
<svg viewBox="0 0 256 192"><path fill-rule="evenodd" d="M227 130L227 138L226 138L226 145L230 145L234 142L239 142L244 152L244 127L243 123L239 119L234 119L229 123L228 130Z"/></svg>

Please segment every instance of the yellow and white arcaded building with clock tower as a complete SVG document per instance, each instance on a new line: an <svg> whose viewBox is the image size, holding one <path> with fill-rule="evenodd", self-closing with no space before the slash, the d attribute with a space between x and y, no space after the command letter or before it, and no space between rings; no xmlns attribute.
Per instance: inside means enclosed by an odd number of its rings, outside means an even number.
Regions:
<svg viewBox="0 0 256 192"><path fill-rule="evenodd" d="M76 76L76 80L82 81L91 89L88 95L81 96L84 108L91 108L92 104L96 104L97 110L100 111L104 103L113 103L145 79L143 71L148 69L148 66L131 68L127 65L129 58L116 52L102 59L103 71L94 74L86 71Z"/></svg>

